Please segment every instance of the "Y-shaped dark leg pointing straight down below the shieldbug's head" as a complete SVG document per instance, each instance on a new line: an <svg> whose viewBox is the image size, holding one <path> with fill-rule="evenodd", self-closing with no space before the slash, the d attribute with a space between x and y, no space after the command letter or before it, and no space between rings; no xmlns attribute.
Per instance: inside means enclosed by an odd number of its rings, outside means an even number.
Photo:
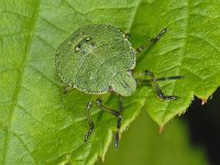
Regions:
<svg viewBox="0 0 220 165"><path fill-rule="evenodd" d="M113 109L110 109L106 106L102 105L101 100L97 99L97 106L103 110L103 111L107 111L111 114L113 114L114 117L118 118L118 121L117 121L117 134L116 134L116 141L114 141L114 147L118 147L118 144L119 144L119 130L121 128L121 121L122 121L122 98L120 97L119 98L119 111L117 110L113 110Z"/></svg>

